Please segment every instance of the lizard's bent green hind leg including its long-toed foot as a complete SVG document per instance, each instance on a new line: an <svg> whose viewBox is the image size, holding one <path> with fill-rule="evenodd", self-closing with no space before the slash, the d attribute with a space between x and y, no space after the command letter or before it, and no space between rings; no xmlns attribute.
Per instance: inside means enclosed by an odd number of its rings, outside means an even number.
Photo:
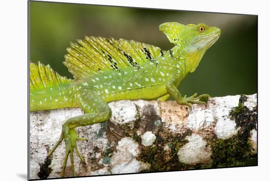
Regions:
<svg viewBox="0 0 270 181"><path fill-rule="evenodd" d="M108 106L108 103L106 103L102 98L98 97L94 92L84 89L84 91L77 94L77 97L80 107L85 112L85 114L72 117L63 124L60 139L54 146L53 150L50 152L50 154L52 154L60 142L63 139L65 140L66 155L63 162L62 177L65 176L65 168L69 155L71 159L71 170L75 176L73 158L74 150L75 153L80 157L81 161L84 162L83 157L80 155L77 149L76 141L86 139L79 138L75 128L100 123L108 120L111 116L111 110Z"/></svg>

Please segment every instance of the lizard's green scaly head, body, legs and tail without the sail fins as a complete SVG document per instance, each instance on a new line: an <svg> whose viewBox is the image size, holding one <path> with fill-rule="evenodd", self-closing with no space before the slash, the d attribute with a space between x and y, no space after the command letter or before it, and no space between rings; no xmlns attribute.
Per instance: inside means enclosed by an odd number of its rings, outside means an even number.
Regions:
<svg viewBox="0 0 270 181"><path fill-rule="evenodd" d="M63 177L69 155L72 172L75 176L74 151L84 162L77 149L76 141L86 139L79 138L75 128L108 120L111 116L108 102L137 99L165 101L169 96L172 96L179 104L185 104L189 107L191 107L191 103L205 104L198 100L202 97L209 97L209 95L197 96L194 94L190 97L183 97L177 87L189 72L195 71L203 54L219 38L221 29L205 24L184 26L171 22L160 25L160 30L175 46L169 51L160 51L160 54L154 58L153 55L149 56L149 51L146 50L146 58L153 59L140 63L139 68L135 69L136 65L126 66L122 67L120 72L106 70L83 78L77 76L75 80L58 86L30 91L30 111L81 107L85 112L85 114L72 117L64 123L59 141L48 155L52 155L58 145L63 140L65 141L66 155L63 162ZM74 52L69 53L79 57ZM109 58L111 57L109 56ZM66 57L67 59L68 57ZM74 65L67 66L72 68ZM118 70L117 67L115 69Z"/></svg>

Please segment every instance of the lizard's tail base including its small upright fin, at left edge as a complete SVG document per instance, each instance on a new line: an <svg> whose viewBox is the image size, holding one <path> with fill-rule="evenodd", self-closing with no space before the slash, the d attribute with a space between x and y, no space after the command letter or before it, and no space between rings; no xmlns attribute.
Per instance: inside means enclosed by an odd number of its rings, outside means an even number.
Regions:
<svg viewBox="0 0 270 181"><path fill-rule="evenodd" d="M75 106L71 79L60 76L50 65L30 63L30 111Z"/></svg>

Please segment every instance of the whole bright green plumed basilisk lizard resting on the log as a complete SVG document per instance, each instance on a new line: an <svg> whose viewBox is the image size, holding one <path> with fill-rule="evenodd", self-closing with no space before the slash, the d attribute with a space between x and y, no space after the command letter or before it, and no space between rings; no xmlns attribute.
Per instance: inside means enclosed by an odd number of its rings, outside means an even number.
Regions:
<svg viewBox="0 0 270 181"><path fill-rule="evenodd" d="M169 51L134 40L93 36L71 43L63 63L74 79L60 76L50 65L30 63L30 111L81 107L85 112L63 124L59 141L48 154L52 155L64 140L63 177L69 155L74 176L74 152L84 161L76 141L85 139L77 136L75 128L108 120L108 102L165 101L171 95L188 106L204 103L199 99L208 95L183 97L177 87L189 72L195 71L204 53L219 38L221 29L175 22L159 28L175 44Z"/></svg>

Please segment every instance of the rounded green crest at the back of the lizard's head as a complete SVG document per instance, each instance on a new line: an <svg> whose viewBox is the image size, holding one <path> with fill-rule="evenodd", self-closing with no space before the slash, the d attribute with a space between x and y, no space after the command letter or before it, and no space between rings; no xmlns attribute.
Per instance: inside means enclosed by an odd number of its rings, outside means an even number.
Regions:
<svg viewBox="0 0 270 181"><path fill-rule="evenodd" d="M185 25L182 25L177 22L168 22L163 23L159 26L160 31L162 31L169 41L173 44L178 44L181 42L180 40L180 32L185 28Z"/></svg>

